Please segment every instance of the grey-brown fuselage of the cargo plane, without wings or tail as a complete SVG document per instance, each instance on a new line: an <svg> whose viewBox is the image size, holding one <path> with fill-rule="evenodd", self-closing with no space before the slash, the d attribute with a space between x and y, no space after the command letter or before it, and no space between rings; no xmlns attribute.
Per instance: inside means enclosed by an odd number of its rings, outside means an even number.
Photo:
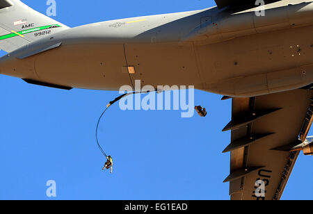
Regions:
<svg viewBox="0 0 313 214"><path fill-rule="evenodd" d="M232 97L309 85L313 3L265 7L264 17L255 9L215 7L70 28L4 56L0 73L71 88L118 90L131 84L125 67L132 66L131 79L145 85L195 85Z"/></svg>

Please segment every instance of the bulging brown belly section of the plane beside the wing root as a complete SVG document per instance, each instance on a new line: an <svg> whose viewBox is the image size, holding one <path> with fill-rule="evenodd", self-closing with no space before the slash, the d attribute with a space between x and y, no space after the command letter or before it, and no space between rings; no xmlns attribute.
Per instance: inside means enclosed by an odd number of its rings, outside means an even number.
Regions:
<svg viewBox="0 0 313 214"><path fill-rule="evenodd" d="M204 90L250 97L309 85L312 34L306 26L197 46Z"/></svg>

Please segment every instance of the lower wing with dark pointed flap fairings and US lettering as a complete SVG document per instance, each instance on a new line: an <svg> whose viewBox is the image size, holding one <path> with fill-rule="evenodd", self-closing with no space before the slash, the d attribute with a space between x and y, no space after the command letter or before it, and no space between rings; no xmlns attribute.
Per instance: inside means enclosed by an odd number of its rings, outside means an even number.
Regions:
<svg viewBox="0 0 313 214"><path fill-rule="evenodd" d="M230 196L233 200L280 199L312 124L313 90L232 99ZM299 133L301 139L299 140Z"/></svg>

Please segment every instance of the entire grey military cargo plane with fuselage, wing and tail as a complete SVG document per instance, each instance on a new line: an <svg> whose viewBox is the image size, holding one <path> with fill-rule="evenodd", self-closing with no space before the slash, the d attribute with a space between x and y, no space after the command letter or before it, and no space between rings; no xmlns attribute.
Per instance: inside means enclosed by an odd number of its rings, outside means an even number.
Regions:
<svg viewBox="0 0 313 214"><path fill-rule="evenodd" d="M64 90L141 79L221 94L232 99L231 199L280 199L300 150L313 154L313 1L215 1L69 28L0 0L0 74Z"/></svg>

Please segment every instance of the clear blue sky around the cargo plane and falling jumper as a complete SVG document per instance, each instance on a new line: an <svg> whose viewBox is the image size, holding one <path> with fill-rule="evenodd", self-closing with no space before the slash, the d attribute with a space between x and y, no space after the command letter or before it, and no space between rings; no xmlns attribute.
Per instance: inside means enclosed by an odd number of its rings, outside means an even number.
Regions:
<svg viewBox="0 0 313 214"><path fill-rule="evenodd" d="M25 0L45 13L45 0ZM57 2L57 19L67 26L109 19L174 13L214 6L211 0L94 0ZM4 54L3 51L0 52ZM114 172L102 172L95 126L118 92L70 92L28 85L0 76L0 199L229 199L230 155L222 154L230 133L231 101L195 92L207 117L184 119L179 111L109 110L99 137L114 158ZM191 162L193 160L193 162ZM312 158L300 155L282 199L313 199Z"/></svg>

